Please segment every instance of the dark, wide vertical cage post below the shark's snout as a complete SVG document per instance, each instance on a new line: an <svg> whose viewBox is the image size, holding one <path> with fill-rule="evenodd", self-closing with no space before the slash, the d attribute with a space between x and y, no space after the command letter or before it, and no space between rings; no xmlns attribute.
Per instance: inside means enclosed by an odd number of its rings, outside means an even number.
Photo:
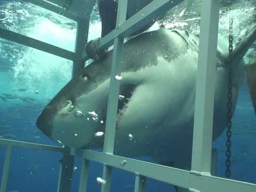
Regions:
<svg viewBox="0 0 256 192"><path fill-rule="evenodd" d="M60 160L60 174L59 174L59 183L58 183L58 192L70 192L71 182L73 175L75 157L68 154L63 154L62 159Z"/></svg>

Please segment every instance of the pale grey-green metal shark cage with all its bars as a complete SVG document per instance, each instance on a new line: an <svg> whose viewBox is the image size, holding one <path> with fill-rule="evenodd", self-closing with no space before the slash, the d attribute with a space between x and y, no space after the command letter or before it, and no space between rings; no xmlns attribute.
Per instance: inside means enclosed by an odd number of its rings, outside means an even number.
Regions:
<svg viewBox="0 0 256 192"><path fill-rule="evenodd" d="M74 74L78 73L84 67L84 62L88 59L85 53L85 44L87 43L90 13L95 0L28 0L28 2L77 21L75 52L70 52L3 28L0 28L0 37L73 61L72 73L74 76ZM107 48L114 42L108 100L109 108L103 153L0 139L0 145L6 146L0 192L6 191L13 146L49 150L63 154L59 173L58 192L70 191L74 158L77 155L82 156L83 159L79 192L86 191L90 161L103 164L102 179L105 182L101 185L102 192L110 191L112 167L117 167L118 169L135 174L135 192L145 191L147 177L187 188L193 192L256 191L256 185L253 183L213 177L210 174L214 101L214 81L212 79L214 79L215 60L217 59L219 0L204 0L202 7L191 171L113 155L116 119L115 107L117 105L119 91L119 83L118 81L114 81L114 78L115 75L120 73L124 37L132 34L138 28L153 20L156 15L169 10L169 5L171 4L178 3L175 0L155 0L126 21L127 0L118 2L117 27L103 37L99 45L102 48Z"/></svg>

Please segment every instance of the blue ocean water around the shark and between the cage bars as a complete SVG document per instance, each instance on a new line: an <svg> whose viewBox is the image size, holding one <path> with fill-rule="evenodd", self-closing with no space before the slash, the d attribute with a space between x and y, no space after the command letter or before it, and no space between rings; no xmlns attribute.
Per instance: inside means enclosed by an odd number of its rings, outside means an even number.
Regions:
<svg viewBox="0 0 256 192"><path fill-rule="evenodd" d="M194 6L183 4L162 20L166 26L185 28L198 33L199 1ZM255 20L255 1L235 1L221 10L219 32L227 36L229 17L234 18L235 43ZM229 17L227 17L229 16ZM92 12L89 39L100 36L97 10ZM76 23L60 15L24 1L0 1L0 26L46 43L74 50ZM157 27L157 26L154 26ZM63 41L65 39L65 41ZM0 98L0 137L28 142L58 145L35 126L45 105L71 78L71 62L0 39L0 93L13 99ZM255 57L255 44L246 57ZM19 91L26 89L26 91ZM37 94L38 91L38 94ZM246 81L241 85L233 117L231 179L256 183L256 116L250 101ZM30 99L29 99L30 98ZM32 99L31 99L32 98ZM218 154L218 173L225 177L226 134L214 147ZM0 167L5 149L0 148ZM14 147L7 191L56 191L61 154ZM143 158L149 161L146 157ZM76 158L72 191L78 191L81 158ZM0 175L3 169L0 168ZM89 191L100 191L96 178L102 175L102 165L91 162ZM134 174L114 169L112 191L133 191ZM147 180L146 191L172 191L173 187L153 179Z"/></svg>

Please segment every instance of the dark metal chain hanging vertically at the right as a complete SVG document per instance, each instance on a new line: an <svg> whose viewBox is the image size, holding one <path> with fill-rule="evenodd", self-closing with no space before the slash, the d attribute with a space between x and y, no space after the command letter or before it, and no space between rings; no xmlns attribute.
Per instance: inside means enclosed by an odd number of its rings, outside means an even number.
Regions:
<svg viewBox="0 0 256 192"><path fill-rule="evenodd" d="M233 53L233 19L230 19L229 21L229 63L228 63L228 103L227 103L227 142L226 142L226 146L227 146L227 150L226 150L226 177L230 178L230 167L231 167L231 161L230 161L230 157L231 157L231 126L232 126L232 122L231 122L231 116L232 116L232 69L231 69L231 55Z"/></svg>

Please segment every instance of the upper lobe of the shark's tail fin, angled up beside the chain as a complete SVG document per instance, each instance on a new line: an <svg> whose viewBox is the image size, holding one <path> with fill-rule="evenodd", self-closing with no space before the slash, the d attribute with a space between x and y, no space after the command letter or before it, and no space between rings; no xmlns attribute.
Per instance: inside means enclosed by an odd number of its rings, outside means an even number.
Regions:
<svg viewBox="0 0 256 192"><path fill-rule="evenodd" d="M242 39L242 41L235 47L233 54L231 55L231 61L240 61L244 57L247 50L249 50L255 39L256 24L252 25L252 27L247 30L247 33Z"/></svg>

